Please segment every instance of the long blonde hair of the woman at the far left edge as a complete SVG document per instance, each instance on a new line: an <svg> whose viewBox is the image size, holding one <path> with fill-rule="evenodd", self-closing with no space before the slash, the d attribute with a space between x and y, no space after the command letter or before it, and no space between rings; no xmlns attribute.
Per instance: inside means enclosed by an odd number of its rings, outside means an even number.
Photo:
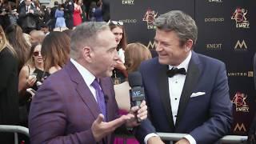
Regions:
<svg viewBox="0 0 256 144"><path fill-rule="evenodd" d="M10 43L6 39L6 34L2 29L2 26L0 25L0 37L2 37L2 42L0 42L0 52L7 48L10 50L10 52L14 55L15 58L17 58L17 54L12 46L10 46Z"/></svg>

